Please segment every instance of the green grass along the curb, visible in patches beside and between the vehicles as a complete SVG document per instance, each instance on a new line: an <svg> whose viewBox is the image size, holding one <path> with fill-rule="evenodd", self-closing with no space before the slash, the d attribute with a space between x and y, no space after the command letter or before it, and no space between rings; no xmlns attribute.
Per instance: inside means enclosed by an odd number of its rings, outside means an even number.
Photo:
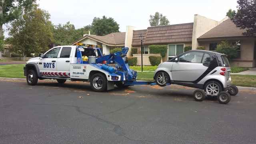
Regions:
<svg viewBox="0 0 256 144"><path fill-rule="evenodd" d="M23 76L24 64L11 64L0 66L0 77L25 78ZM138 80L153 80L154 72L138 72ZM231 75L232 84L236 86L256 87L256 76Z"/></svg>

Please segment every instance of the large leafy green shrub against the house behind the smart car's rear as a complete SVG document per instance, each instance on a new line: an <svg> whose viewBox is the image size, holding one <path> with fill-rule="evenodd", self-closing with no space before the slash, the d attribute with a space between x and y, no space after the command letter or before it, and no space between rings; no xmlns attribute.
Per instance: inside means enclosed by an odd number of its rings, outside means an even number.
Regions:
<svg viewBox="0 0 256 144"><path fill-rule="evenodd" d="M233 58L237 58L237 49L238 46L236 44L233 45L228 41L222 41L217 45L216 51L228 55L228 59L232 60Z"/></svg>

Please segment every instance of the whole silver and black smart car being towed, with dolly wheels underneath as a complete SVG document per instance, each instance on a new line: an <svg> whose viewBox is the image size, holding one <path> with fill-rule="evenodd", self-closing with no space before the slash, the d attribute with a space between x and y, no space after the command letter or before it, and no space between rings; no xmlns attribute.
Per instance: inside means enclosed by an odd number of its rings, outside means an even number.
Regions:
<svg viewBox="0 0 256 144"><path fill-rule="evenodd" d="M207 50L190 50L159 64L154 80L159 86L178 84L201 89L194 92L197 101L210 95L217 96L220 103L226 104L230 95L238 93L237 87L231 85L226 55Z"/></svg>

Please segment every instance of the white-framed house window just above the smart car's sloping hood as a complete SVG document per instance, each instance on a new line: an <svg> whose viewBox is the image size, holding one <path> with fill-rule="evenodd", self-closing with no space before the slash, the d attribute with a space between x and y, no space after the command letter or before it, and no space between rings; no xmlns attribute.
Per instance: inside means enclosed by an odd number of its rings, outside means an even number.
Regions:
<svg viewBox="0 0 256 144"><path fill-rule="evenodd" d="M168 59L174 58L175 56L184 52L184 44L169 44L168 45Z"/></svg>

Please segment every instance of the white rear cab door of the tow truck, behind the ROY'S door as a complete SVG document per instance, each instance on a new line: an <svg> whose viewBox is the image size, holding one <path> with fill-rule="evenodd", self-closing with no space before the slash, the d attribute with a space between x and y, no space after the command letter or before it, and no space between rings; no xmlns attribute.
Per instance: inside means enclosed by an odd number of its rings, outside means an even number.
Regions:
<svg viewBox="0 0 256 144"><path fill-rule="evenodd" d="M71 47L62 47L60 57L57 60L57 71L59 76L70 77L70 53Z"/></svg>

